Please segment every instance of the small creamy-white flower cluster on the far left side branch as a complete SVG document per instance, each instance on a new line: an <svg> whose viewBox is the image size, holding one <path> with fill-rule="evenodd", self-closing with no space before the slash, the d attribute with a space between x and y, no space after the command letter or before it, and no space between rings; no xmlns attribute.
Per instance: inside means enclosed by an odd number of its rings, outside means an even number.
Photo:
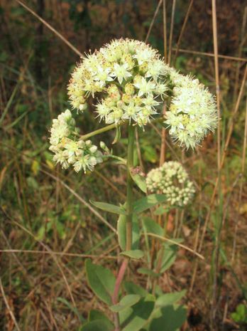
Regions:
<svg viewBox="0 0 247 331"><path fill-rule="evenodd" d="M53 160L60 163L63 169L70 164L76 172L81 169L93 171L97 163L102 162L102 154L91 140L76 140L75 120L70 110L62 112L53 120L50 129L50 150L55 154Z"/></svg>

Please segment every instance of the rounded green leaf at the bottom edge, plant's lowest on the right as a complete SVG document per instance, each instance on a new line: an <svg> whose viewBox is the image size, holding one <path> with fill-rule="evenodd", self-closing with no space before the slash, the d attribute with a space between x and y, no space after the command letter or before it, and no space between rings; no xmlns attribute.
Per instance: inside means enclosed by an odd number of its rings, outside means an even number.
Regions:
<svg viewBox="0 0 247 331"><path fill-rule="evenodd" d="M184 306L172 306L160 308L155 312L150 322L150 331L177 331L180 330L186 320L186 309Z"/></svg>

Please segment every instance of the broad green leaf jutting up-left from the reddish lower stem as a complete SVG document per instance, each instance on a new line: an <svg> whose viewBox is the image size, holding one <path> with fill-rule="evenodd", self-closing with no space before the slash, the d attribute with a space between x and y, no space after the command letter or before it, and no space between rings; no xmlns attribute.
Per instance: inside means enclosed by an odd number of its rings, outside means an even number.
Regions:
<svg viewBox="0 0 247 331"><path fill-rule="evenodd" d="M111 305L111 296L114 292L115 277L110 270L93 264L90 260L86 263L87 281L94 293L107 305Z"/></svg>

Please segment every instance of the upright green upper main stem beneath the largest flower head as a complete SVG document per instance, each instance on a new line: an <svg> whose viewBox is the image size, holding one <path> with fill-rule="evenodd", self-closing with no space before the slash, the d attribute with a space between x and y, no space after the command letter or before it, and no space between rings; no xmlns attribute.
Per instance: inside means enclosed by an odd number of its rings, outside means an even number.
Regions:
<svg viewBox="0 0 247 331"><path fill-rule="evenodd" d="M128 125L128 152L127 152L127 198L126 198L126 251L132 248L132 217L133 217L133 147L135 142L135 127Z"/></svg>

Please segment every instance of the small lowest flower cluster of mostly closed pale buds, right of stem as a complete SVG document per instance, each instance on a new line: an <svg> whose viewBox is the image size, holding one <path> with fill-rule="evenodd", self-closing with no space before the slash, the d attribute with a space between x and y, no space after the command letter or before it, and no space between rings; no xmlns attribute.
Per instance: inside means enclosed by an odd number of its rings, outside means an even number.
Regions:
<svg viewBox="0 0 247 331"><path fill-rule="evenodd" d="M179 162L165 162L152 169L146 177L147 188L151 193L165 194L170 206L186 206L194 195L194 185Z"/></svg>

